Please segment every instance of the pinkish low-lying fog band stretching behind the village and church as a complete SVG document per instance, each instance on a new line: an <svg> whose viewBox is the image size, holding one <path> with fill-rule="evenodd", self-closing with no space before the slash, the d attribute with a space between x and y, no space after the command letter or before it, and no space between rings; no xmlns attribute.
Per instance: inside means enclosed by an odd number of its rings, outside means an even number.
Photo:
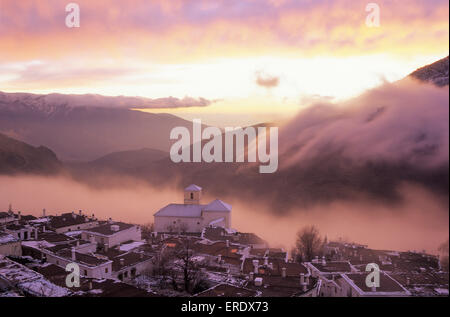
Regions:
<svg viewBox="0 0 450 317"><path fill-rule="evenodd" d="M0 177L0 210L11 203L15 211L39 216L83 210L99 218L112 217L133 223L153 222L153 214L168 203L181 203L183 193L172 187L155 188L132 179L122 187L96 189L66 177ZM201 184L199 184L201 185ZM233 205L232 225L243 232L254 232L272 246L288 250L296 232L304 225L316 225L328 240L339 237L368 244L371 248L426 250L436 254L448 239L449 213L430 192L404 185L404 203L382 205L377 201L356 199L336 201L309 209L295 209L277 216L264 201L241 201L239 197L210 197L204 189L204 202L219 198Z"/></svg>

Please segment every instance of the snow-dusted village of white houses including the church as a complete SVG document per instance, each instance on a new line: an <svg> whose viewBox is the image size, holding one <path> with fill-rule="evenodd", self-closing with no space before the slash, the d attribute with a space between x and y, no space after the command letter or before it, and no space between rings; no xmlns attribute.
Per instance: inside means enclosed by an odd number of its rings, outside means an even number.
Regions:
<svg viewBox="0 0 450 317"><path fill-rule="evenodd" d="M0 212L0 297L448 296L448 268L436 255L325 241L298 260L234 230L232 206L203 204L201 187L181 195L152 225L82 210ZM369 263L380 268L378 287L366 285ZM79 268L79 285L68 283L69 265Z"/></svg>

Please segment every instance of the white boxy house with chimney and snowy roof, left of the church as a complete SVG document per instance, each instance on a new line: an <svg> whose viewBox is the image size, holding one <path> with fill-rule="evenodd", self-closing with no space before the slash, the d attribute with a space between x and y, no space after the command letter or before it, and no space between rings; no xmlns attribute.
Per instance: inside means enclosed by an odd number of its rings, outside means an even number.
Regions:
<svg viewBox="0 0 450 317"><path fill-rule="evenodd" d="M142 233L139 226L109 219L99 226L83 230L81 239L96 242L107 250L125 242L141 241Z"/></svg>

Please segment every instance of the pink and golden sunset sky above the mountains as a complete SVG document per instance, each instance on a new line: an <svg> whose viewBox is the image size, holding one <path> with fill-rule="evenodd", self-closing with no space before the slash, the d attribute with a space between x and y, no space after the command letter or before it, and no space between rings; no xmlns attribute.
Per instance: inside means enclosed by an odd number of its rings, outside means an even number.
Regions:
<svg viewBox="0 0 450 317"><path fill-rule="evenodd" d="M209 124L289 118L448 55L449 2L0 0L0 90L204 98L151 109ZM142 110L141 110L142 111ZM145 111L145 110L144 110Z"/></svg>

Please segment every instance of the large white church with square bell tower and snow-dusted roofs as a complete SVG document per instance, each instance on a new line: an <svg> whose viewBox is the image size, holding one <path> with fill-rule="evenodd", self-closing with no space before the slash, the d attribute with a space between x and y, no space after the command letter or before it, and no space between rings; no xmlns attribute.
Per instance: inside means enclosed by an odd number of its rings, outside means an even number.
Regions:
<svg viewBox="0 0 450 317"><path fill-rule="evenodd" d="M202 188L184 189L184 204L169 204L154 214L156 232L202 232L203 228L231 227L231 205L216 199L201 204Z"/></svg>

